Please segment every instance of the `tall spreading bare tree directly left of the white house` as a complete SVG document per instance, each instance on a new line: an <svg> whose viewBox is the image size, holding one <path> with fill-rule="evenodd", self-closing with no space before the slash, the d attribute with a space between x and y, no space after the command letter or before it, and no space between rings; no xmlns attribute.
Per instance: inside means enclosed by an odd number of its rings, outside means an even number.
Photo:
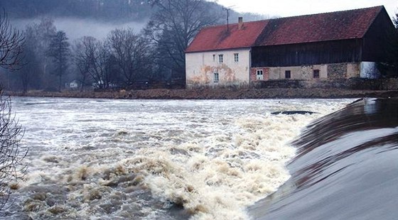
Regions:
<svg viewBox="0 0 398 220"><path fill-rule="evenodd" d="M175 72L175 77L185 77L185 49L201 28L220 20L220 13L204 0L151 0L151 4L158 11L145 33L156 44L158 63Z"/></svg>

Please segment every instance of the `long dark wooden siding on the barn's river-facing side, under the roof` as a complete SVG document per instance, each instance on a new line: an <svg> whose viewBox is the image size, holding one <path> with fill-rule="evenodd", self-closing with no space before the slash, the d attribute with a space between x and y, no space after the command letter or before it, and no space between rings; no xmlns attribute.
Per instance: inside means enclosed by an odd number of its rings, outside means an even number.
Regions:
<svg viewBox="0 0 398 220"><path fill-rule="evenodd" d="M252 48L252 67L291 67L359 62L361 39Z"/></svg>

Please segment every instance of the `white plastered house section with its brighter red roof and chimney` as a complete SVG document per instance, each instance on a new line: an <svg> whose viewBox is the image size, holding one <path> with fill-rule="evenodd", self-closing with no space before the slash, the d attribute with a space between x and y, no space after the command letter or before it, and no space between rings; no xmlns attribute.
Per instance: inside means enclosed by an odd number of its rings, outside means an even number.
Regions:
<svg viewBox="0 0 398 220"><path fill-rule="evenodd" d="M267 21L204 28L185 51L187 87L248 87L250 51Z"/></svg>

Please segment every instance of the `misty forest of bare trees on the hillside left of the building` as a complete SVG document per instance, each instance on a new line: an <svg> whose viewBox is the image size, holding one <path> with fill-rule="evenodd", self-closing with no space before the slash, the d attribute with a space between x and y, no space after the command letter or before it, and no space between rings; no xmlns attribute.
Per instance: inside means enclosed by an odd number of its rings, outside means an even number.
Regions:
<svg viewBox="0 0 398 220"><path fill-rule="evenodd" d="M0 0L1 18L21 34L18 65L0 70L6 90L181 88L185 85L185 48L205 26L264 19L239 14L203 0ZM70 38L56 21L74 18L127 23L102 38ZM25 26L13 21L25 19ZM144 23L144 28L129 26ZM76 26L79 26L77 22ZM86 28L84 23L80 28ZM77 28L77 27L75 27ZM91 28L87 26L87 28ZM74 82L72 88L70 83ZM77 88L76 88L77 87Z"/></svg>

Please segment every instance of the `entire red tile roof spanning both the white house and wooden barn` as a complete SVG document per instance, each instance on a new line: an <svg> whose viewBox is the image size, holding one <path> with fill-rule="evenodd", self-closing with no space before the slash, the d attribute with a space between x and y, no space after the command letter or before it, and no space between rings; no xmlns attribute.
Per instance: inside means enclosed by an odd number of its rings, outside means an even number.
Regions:
<svg viewBox="0 0 398 220"><path fill-rule="evenodd" d="M384 6L203 28L186 53L363 38Z"/></svg>

